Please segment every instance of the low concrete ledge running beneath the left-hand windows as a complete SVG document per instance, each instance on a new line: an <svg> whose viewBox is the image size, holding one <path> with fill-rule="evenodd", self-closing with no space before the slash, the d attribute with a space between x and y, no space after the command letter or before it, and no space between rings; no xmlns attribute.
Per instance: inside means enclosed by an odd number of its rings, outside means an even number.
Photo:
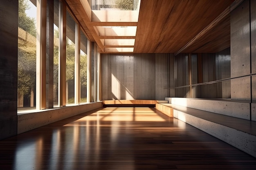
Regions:
<svg viewBox="0 0 256 170"><path fill-rule="evenodd" d="M81 113L85 113L97 108L101 108L102 103L89 103L76 106L65 106L61 108L53 108L50 110L43 110L37 113L28 113L18 115L18 134L27 132L29 130L51 124L53 122L66 119Z"/></svg>

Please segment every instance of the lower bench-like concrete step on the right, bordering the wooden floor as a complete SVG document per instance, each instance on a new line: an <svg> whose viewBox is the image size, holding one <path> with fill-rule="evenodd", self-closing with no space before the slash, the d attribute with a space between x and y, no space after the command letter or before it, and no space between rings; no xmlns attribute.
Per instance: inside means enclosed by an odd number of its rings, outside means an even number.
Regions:
<svg viewBox="0 0 256 170"><path fill-rule="evenodd" d="M256 157L256 122L173 104L173 117Z"/></svg>

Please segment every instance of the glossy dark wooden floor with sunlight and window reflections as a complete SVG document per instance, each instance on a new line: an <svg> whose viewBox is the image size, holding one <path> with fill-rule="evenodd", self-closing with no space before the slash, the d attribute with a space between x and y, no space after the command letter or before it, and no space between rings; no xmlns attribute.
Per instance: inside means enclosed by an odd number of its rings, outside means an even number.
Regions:
<svg viewBox="0 0 256 170"><path fill-rule="evenodd" d="M0 141L0 170L172 169L255 170L256 158L155 108L94 110Z"/></svg>

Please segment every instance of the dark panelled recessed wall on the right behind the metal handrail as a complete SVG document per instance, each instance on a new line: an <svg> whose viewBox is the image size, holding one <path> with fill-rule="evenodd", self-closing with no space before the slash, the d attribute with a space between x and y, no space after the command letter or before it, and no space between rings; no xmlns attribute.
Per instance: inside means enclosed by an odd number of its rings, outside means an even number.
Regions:
<svg viewBox="0 0 256 170"><path fill-rule="evenodd" d="M230 78L230 48L217 53L192 53L191 57L181 53L174 57L175 97L230 98L230 80L180 88L225 78Z"/></svg>

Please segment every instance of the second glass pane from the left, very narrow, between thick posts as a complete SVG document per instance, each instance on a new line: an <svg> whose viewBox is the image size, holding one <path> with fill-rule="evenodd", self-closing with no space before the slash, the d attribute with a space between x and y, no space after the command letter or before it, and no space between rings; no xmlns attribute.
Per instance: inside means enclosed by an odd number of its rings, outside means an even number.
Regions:
<svg viewBox="0 0 256 170"><path fill-rule="evenodd" d="M54 0L54 79L53 79L53 104L58 106L58 66L59 66L59 0Z"/></svg>

